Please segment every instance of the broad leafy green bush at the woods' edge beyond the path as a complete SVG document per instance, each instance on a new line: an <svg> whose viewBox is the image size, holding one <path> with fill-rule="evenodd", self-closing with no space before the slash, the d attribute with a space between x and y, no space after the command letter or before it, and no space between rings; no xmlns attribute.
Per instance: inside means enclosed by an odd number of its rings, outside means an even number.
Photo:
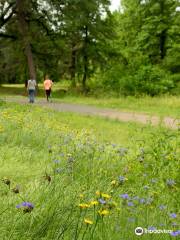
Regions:
<svg viewBox="0 0 180 240"><path fill-rule="evenodd" d="M118 95L155 96L170 92L175 87L174 82L171 75L159 66L143 65L138 70L130 71L122 65L114 65L96 76L94 86L105 92L114 91Z"/></svg>

